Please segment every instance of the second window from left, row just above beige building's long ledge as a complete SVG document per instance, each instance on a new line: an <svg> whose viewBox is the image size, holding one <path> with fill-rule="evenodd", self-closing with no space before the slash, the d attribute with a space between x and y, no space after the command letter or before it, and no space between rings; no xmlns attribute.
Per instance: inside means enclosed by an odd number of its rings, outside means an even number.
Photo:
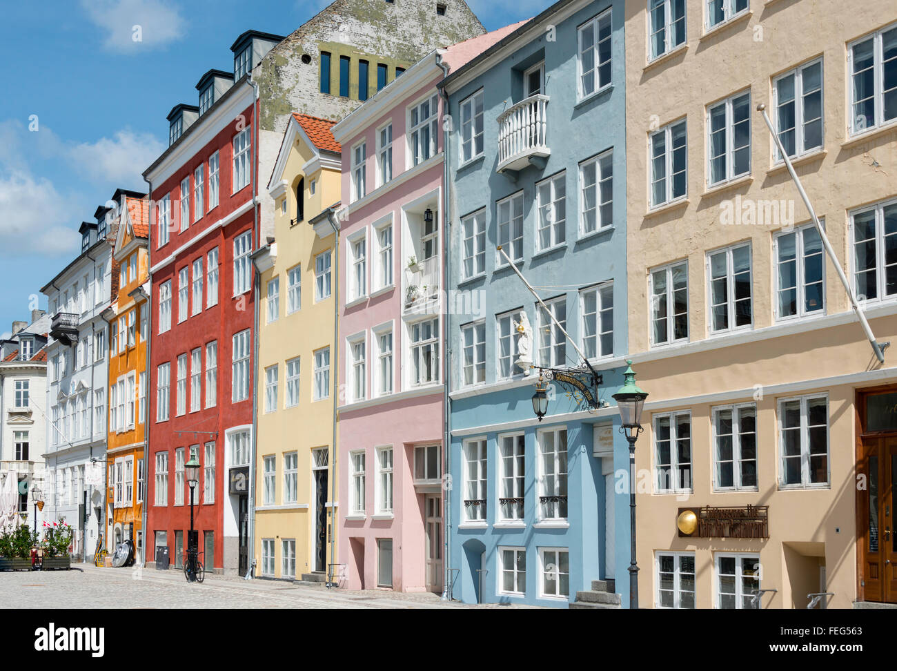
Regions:
<svg viewBox="0 0 897 671"><path fill-rule="evenodd" d="M710 332L750 328L751 246L739 245L707 256Z"/></svg>

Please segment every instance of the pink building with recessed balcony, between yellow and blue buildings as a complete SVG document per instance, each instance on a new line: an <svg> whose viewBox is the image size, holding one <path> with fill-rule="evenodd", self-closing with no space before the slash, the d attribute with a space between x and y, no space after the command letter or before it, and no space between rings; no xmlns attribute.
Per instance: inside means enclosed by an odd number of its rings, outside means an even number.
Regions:
<svg viewBox="0 0 897 671"><path fill-rule="evenodd" d="M457 69L516 27L433 51L333 128L343 145L337 557L346 588L443 589L437 84L443 67ZM479 113L469 119L472 142L482 134Z"/></svg>

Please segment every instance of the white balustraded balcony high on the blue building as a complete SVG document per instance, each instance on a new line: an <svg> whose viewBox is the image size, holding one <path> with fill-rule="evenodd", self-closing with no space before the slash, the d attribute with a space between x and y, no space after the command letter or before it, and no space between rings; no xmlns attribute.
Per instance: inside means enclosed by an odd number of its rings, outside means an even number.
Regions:
<svg viewBox="0 0 897 671"><path fill-rule="evenodd" d="M546 137L548 96L537 94L520 100L499 115L499 163L497 172L523 170L530 163L543 167L551 154Z"/></svg>

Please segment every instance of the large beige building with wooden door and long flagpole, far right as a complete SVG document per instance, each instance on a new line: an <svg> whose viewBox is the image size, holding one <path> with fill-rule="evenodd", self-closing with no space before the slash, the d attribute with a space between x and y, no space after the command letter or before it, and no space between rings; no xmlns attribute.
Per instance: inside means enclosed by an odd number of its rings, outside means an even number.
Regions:
<svg viewBox="0 0 897 671"><path fill-rule="evenodd" d="M897 344L894 5L660 9L625 17L640 606L897 602L897 351L757 110Z"/></svg>

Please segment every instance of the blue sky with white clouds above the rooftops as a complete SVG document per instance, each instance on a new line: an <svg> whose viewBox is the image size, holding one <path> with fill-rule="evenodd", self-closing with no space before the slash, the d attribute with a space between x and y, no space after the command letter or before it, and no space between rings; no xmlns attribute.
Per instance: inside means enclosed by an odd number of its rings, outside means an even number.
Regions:
<svg viewBox="0 0 897 671"><path fill-rule="evenodd" d="M550 0L469 0L487 30ZM288 35L326 0L48 0L4 3L0 43L0 334L77 254L80 222L164 149L169 110L230 70L248 29ZM140 25L143 40L132 39Z"/></svg>

